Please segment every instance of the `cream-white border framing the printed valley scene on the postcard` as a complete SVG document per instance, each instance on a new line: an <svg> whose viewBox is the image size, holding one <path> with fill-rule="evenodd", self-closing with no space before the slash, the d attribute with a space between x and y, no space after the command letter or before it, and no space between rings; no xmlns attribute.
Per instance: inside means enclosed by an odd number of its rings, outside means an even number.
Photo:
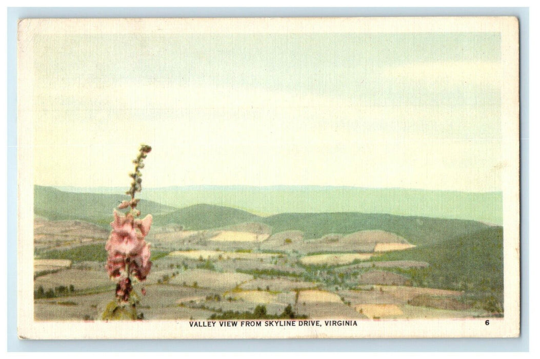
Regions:
<svg viewBox="0 0 540 359"><path fill-rule="evenodd" d="M519 336L519 49L514 17L23 19L18 24L19 338L414 338ZM504 317L467 320L357 321L357 327L190 328L188 321L83 322L33 319L32 38L38 33L221 32L500 32Z"/></svg>

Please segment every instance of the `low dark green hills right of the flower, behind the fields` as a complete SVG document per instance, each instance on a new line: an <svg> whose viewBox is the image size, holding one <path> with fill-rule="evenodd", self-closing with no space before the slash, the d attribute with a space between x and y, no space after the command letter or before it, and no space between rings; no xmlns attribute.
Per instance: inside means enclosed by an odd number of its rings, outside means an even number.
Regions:
<svg viewBox="0 0 540 359"><path fill-rule="evenodd" d="M329 233L348 234L367 229L380 229L403 236L410 243L423 245L456 238L489 228L481 222L397 216L367 213L282 213L257 216L239 209L195 205L154 216L157 226L183 225L186 229L221 228L246 222L259 222L272 227L272 233L290 230L304 232L305 239L321 238Z"/></svg>

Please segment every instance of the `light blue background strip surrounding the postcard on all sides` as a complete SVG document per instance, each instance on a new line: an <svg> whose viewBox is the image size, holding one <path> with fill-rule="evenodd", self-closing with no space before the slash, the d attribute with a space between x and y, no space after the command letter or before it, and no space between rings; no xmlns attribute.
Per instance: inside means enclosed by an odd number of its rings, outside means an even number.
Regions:
<svg viewBox="0 0 540 359"><path fill-rule="evenodd" d="M17 338L17 20L90 17L517 16L521 90L521 337L456 339L30 341ZM528 8L8 8L8 351L528 351L529 9ZM125 342L125 341L124 341Z"/></svg>

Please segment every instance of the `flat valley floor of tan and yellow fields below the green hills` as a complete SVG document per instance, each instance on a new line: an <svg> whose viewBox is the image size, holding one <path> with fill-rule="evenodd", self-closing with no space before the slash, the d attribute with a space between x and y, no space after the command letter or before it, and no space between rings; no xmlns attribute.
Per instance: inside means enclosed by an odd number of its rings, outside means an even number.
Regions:
<svg viewBox="0 0 540 359"><path fill-rule="evenodd" d="M55 223L40 220L55 238ZM68 226L69 241L45 241L38 233L36 255L70 253L72 260L35 260L36 320L100 320L114 299L104 261L92 260L104 248L104 239L92 244L78 239L77 225ZM80 225L80 224L79 224ZM86 231L81 235L87 237ZM377 260L381 243L391 250L414 247L402 238L381 231L302 240L301 233L276 235L234 231L156 231L152 250L159 254L152 270L135 291L139 313L145 320L205 320L227 312L253 313L264 306L267 315L280 315L291 306L296 317L311 319L436 319L494 315L464 301L460 290L413 286L407 270L426 268L422 261ZM227 240L224 240L227 239ZM337 239L337 240L336 240ZM370 240L372 239L372 240ZM393 244L394 243L394 244ZM49 247L47 247L49 245ZM306 250L307 248L307 250ZM309 253L313 248L339 248L340 252ZM353 252L361 248L362 253ZM92 254L91 251L97 253ZM56 251L56 252L55 252ZM346 252L344 252L346 251ZM405 273L405 274L404 274ZM145 288L146 295L141 294Z"/></svg>

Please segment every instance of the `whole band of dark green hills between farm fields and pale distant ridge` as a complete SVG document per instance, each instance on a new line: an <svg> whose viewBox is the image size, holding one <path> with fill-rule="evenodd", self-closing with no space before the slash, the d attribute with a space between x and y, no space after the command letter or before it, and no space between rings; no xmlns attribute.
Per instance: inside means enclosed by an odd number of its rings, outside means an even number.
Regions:
<svg viewBox="0 0 540 359"><path fill-rule="evenodd" d="M36 186L35 213L52 220L79 219L108 227L112 209L127 196L95 193L69 193L50 187ZM141 200L140 210L152 213L154 226L182 225L186 229L222 228L246 222L259 222L272 227L272 233L299 230L305 239L320 238L329 233L348 234L366 229L395 233L415 245L438 243L489 228L482 222L418 216L369 213L282 213L268 217L240 209L198 204L173 208Z"/></svg>

